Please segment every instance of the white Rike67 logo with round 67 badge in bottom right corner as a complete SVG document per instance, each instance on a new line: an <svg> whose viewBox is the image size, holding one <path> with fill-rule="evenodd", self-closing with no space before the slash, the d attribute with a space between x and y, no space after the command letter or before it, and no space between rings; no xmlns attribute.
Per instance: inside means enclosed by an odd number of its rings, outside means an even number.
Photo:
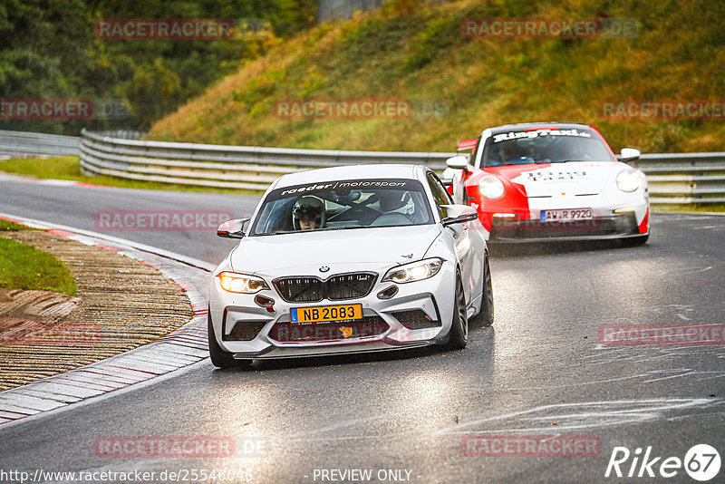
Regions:
<svg viewBox="0 0 725 484"><path fill-rule="evenodd" d="M692 446L681 460L679 457L655 457L652 446L648 446L644 454L639 447L634 452L626 447L614 447L604 477L673 478L682 469L701 482L714 479L720 473L720 453L708 444L698 444Z"/></svg>

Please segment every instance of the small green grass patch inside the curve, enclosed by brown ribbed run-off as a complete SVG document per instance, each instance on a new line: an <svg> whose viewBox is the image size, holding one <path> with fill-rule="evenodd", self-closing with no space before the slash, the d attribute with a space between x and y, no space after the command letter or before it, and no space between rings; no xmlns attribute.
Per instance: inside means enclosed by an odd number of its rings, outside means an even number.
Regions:
<svg viewBox="0 0 725 484"><path fill-rule="evenodd" d="M60 260L4 237L0 237L0 287L77 293L75 279Z"/></svg>

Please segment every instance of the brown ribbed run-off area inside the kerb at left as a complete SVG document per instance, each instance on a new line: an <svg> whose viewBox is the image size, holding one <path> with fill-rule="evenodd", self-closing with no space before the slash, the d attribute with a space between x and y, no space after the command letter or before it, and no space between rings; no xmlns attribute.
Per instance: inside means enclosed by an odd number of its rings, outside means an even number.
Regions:
<svg viewBox="0 0 725 484"><path fill-rule="evenodd" d="M78 296L0 292L0 391L148 344L187 323L189 297L158 270L39 230L0 232L57 257Z"/></svg>

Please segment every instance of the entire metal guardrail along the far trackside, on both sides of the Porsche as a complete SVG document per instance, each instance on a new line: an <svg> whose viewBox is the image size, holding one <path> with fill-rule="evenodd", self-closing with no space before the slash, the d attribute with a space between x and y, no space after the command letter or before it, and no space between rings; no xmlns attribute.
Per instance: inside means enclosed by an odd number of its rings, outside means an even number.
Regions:
<svg viewBox="0 0 725 484"><path fill-rule="evenodd" d="M143 141L135 131L82 131L81 139L0 131L0 154L81 155L89 175L181 185L264 190L278 176L359 163L424 164L445 169L456 153L292 150ZM643 154L631 165L647 174L652 204L725 203L725 152Z"/></svg>

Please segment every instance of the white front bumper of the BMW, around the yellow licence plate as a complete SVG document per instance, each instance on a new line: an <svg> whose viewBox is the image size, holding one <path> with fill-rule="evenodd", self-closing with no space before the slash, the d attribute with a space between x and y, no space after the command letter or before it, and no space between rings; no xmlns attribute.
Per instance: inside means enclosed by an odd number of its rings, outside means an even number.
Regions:
<svg viewBox="0 0 725 484"><path fill-rule="evenodd" d="M380 277L379 277L380 278ZM455 266L446 263L436 276L396 285L377 280L369 295L345 301L288 303L275 287L260 291L274 299L269 311L255 303L256 295L227 293L214 277L209 293L209 317L223 350L236 359L277 359L326 354L377 352L435 344L450 329ZM390 299L378 296L397 286ZM362 320L298 324L290 309L322 305L362 305Z"/></svg>

